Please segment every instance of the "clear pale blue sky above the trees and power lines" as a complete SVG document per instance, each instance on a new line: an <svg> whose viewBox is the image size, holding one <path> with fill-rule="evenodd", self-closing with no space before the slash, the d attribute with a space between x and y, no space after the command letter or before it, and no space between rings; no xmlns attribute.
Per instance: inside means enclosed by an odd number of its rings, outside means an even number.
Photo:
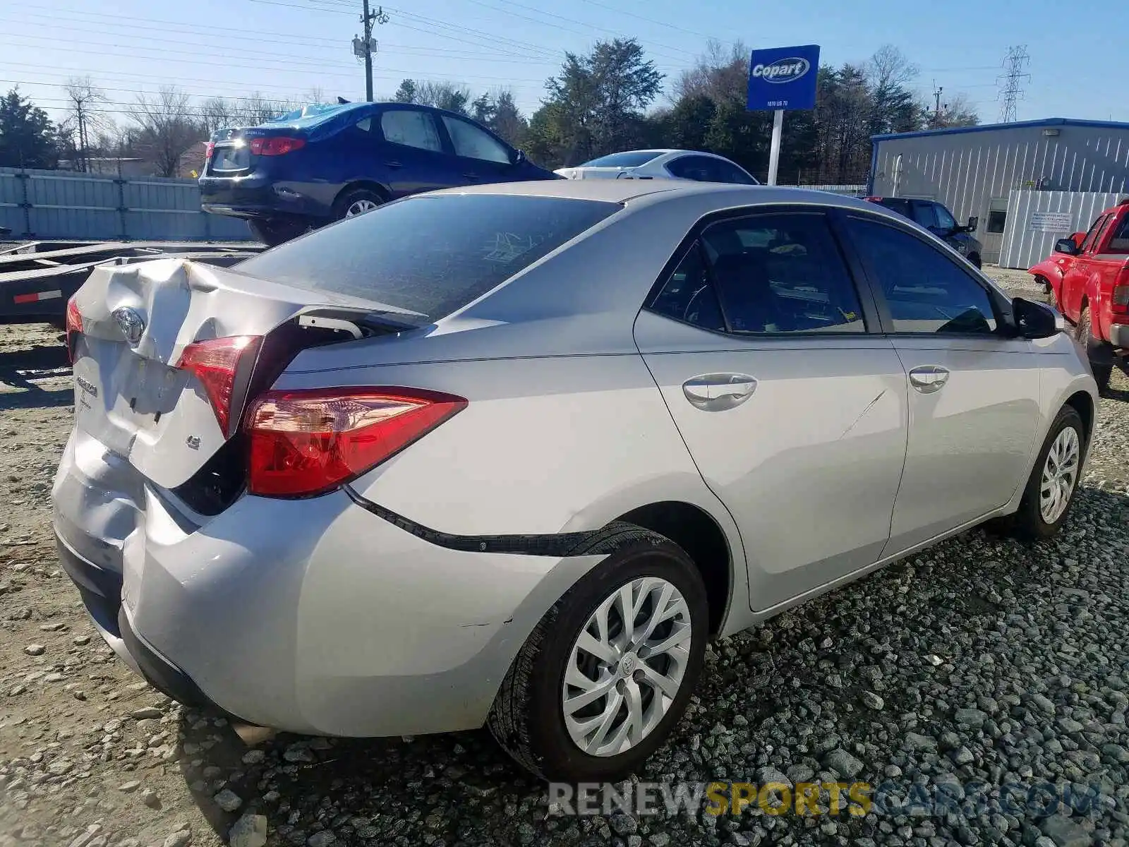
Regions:
<svg viewBox="0 0 1129 847"><path fill-rule="evenodd" d="M396 3L403 3L397 6ZM360 0L0 0L0 90L19 85L53 115L61 85L89 75L120 110L139 91L175 84L198 98L259 90L364 98L350 40ZM997 76L1008 45L1026 44L1031 79L1018 119L1129 121L1124 34L1129 6L1111 0L1071 14L1050 0L393 0L377 27L377 96L404 77L506 86L530 112L566 50L637 37L674 78L708 37L752 46L822 45L824 62L861 62L894 44L921 68L917 87L963 93L983 122L998 114ZM1064 26L1073 17L1076 26Z"/></svg>

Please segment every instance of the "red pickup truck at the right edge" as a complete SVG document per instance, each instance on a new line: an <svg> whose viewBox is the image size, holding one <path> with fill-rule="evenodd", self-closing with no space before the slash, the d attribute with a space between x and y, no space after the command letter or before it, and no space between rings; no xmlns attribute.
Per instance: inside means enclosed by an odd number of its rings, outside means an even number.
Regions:
<svg viewBox="0 0 1129 847"><path fill-rule="evenodd" d="M1057 241L1054 253L1027 272L1074 323L1105 392L1115 358L1129 352L1129 198L1099 215L1088 232Z"/></svg>

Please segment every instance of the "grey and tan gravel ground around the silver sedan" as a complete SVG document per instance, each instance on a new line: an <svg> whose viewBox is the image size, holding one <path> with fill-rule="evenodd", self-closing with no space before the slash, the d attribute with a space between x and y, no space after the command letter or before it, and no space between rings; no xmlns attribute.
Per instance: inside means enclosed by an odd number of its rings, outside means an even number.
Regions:
<svg viewBox="0 0 1129 847"><path fill-rule="evenodd" d="M71 417L58 333L0 328L0 847L1126 844L1129 378L1115 373L1114 388L1058 539L973 531L715 644L690 714L640 775L865 780L882 784L885 809L574 818L484 732L248 750L224 719L133 678L50 541ZM954 780L963 805L896 810ZM1000 794L1043 783L1100 798L1043 817Z"/></svg>

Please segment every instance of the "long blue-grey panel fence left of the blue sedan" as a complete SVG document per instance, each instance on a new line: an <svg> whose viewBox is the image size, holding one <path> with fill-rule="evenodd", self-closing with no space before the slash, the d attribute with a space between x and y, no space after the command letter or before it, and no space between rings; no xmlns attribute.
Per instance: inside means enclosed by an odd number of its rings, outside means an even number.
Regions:
<svg viewBox="0 0 1129 847"><path fill-rule="evenodd" d="M200 208L195 180L0 167L9 238L250 241L246 222Z"/></svg>

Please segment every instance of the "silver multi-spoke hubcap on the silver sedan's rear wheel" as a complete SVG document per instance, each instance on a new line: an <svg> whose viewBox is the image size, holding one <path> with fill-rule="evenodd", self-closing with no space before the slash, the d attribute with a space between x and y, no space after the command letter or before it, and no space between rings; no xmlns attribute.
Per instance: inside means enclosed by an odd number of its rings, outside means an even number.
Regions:
<svg viewBox="0 0 1129 847"><path fill-rule="evenodd" d="M690 606L659 577L616 588L569 653L561 686L564 726L589 756L630 750L662 722L690 661Z"/></svg>

